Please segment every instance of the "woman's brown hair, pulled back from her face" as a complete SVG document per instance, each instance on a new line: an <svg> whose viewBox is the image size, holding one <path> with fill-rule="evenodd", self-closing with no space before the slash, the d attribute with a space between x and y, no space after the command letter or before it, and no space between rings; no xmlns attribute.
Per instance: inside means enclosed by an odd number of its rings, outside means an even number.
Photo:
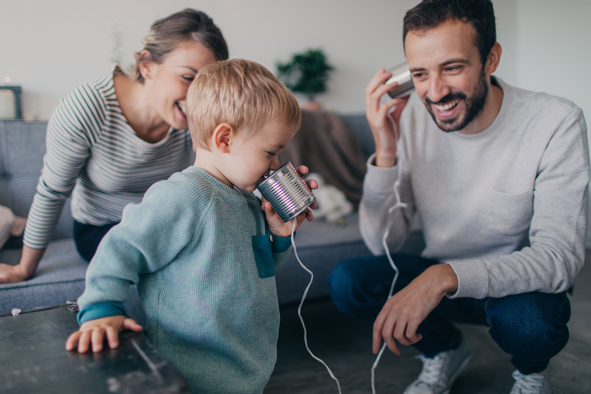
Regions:
<svg viewBox="0 0 591 394"><path fill-rule="evenodd" d="M141 58L141 52L134 54L132 74L140 82L144 76L139 71L139 64L148 60L162 63L164 58L183 41L193 40L203 44L212 51L217 60L228 58L228 45L222 32L205 12L186 8L175 12L166 18L158 19L150 27L150 32L144 36L142 51L148 51L150 56Z"/></svg>

